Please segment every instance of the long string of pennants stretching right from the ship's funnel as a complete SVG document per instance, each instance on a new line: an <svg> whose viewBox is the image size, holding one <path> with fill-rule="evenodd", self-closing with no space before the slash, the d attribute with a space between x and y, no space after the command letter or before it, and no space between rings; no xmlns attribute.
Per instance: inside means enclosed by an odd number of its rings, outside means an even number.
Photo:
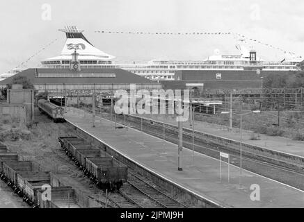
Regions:
<svg viewBox="0 0 304 222"><path fill-rule="evenodd" d="M282 51L283 53L289 53L293 56L296 55L296 53L291 51L286 51L285 49L282 49L280 47L273 46L272 44L266 44L264 42L261 42L259 40L255 40L254 38L246 37L245 35L241 35L239 33L232 33L232 32L216 32L216 33L210 33L210 32L193 32L193 33L168 33L168 32L132 32L132 31L95 31L95 33L104 33L104 34L128 34L128 35L234 35L242 37L244 40L255 42L258 44L262 44L263 46L269 47L271 49L276 49L279 51Z"/></svg>

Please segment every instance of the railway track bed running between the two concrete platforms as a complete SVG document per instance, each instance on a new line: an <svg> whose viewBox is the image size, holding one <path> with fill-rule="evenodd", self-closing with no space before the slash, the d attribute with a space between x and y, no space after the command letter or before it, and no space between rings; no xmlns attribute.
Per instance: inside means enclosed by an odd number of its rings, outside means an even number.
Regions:
<svg viewBox="0 0 304 222"><path fill-rule="evenodd" d="M112 121L111 117L107 113L98 115L104 119ZM125 119L122 115L116 115L116 119L118 123L122 125L126 125L136 130L141 130L141 121L139 120L131 121L129 118ZM144 133L163 139L163 128L160 125L157 126L157 124L150 124L147 126L146 124L143 124L142 129ZM177 144L177 130L167 129L165 139L168 142ZM210 139L198 137L197 135L195 135L194 144L194 150L196 152L214 157L215 159L219 159L218 153L220 151L229 153L230 164L239 167L239 151L232 150L223 146L223 144L218 144ZM184 147L192 149L192 135L187 133L184 134ZM265 176L266 178L271 178L292 187L304 190L304 171L285 167L280 165L280 163L276 164L268 162L266 159L259 159L255 157L255 155L246 155L245 153L243 153L242 167L243 169Z"/></svg>

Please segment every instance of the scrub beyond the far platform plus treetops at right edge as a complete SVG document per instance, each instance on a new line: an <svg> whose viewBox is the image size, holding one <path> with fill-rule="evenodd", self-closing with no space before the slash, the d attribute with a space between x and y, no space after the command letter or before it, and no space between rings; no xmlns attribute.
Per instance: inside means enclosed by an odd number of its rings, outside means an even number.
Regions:
<svg viewBox="0 0 304 222"><path fill-rule="evenodd" d="M304 71L269 74L263 80L263 87L266 89L294 89L304 87ZM265 134L304 141L304 101L301 101L303 98L300 93L298 93L297 96L296 99L295 94L266 93L263 94L262 98L250 98L250 96L234 97L233 112L244 113L249 110L262 111L260 114L248 114L243 117L243 128L254 132L253 135L250 136L250 139L259 139L259 134ZM220 112L227 110L225 105L218 106ZM196 114L195 119L227 127L230 124L229 115L227 114L218 113L214 116ZM239 128L239 124L240 117L234 115L232 126Z"/></svg>

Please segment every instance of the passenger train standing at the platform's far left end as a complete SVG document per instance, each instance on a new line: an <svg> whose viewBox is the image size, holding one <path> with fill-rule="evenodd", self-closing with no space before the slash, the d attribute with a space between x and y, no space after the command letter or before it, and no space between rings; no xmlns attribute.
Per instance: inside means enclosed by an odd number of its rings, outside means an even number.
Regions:
<svg viewBox="0 0 304 222"><path fill-rule="evenodd" d="M49 117L51 117L54 122L65 121L65 118L63 117L65 110L61 106L50 103L45 99L40 99L38 101L38 108L40 112L45 112Z"/></svg>

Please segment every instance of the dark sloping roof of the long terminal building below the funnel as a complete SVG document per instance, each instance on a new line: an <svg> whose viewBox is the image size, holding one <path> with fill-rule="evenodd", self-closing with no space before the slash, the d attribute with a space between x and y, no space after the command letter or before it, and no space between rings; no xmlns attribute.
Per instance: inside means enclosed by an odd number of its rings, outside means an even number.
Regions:
<svg viewBox="0 0 304 222"><path fill-rule="evenodd" d="M26 69L15 76L0 81L11 83L16 76L26 76L33 85L41 84L158 84L123 69ZM68 76L68 77L67 77Z"/></svg>

